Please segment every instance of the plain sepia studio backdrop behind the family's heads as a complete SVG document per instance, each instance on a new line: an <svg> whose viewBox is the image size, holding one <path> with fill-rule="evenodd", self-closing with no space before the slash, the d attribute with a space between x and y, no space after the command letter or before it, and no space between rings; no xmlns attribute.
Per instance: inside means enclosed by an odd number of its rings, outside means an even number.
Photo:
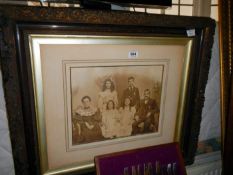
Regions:
<svg viewBox="0 0 233 175"><path fill-rule="evenodd" d="M97 107L98 94L108 78L115 85L120 103L123 100L123 91L128 87L128 78L131 76L135 78L134 82L139 89L140 98L143 98L145 89L150 89L151 98L155 99L160 106L163 65L99 66L71 68L72 109L75 111L78 106L81 106L81 99L86 95L91 97L92 104Z"/></svg>

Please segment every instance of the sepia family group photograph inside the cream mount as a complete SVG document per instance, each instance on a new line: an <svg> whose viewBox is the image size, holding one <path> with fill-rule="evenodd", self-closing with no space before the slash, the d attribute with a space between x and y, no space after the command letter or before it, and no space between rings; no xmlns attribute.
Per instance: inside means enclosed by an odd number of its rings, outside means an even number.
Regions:
<svg viewBox="0 0 233 175"><path fill-rule="evenodd" d="M71 67L72 145L158 132L163 74L162 64Z"/></svg>

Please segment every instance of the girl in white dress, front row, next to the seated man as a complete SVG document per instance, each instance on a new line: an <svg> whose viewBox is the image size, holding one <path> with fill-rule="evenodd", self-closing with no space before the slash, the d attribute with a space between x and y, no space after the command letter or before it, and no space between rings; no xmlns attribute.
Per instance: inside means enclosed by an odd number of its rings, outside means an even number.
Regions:
<svg viewBox="0 0 233 175"><path fill-rule="evenodd" d="M131 135L135 112L135 107L130 105L130 99L126 97L123 107L119 110L121 127L119 128L118 136L126 137Z"/></svg>

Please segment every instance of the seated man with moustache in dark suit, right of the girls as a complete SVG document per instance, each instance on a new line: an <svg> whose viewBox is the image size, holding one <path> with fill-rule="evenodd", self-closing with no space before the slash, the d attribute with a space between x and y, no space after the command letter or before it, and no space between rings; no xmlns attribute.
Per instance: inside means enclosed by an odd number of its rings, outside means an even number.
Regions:
<svg viewBox="0 0 233 175"><path fill-rule="evenodd" d="M150 98L150 90L144 91L144 98L135 114L132 134L155 132L158 130L159 108L154 99Z"/></svg>

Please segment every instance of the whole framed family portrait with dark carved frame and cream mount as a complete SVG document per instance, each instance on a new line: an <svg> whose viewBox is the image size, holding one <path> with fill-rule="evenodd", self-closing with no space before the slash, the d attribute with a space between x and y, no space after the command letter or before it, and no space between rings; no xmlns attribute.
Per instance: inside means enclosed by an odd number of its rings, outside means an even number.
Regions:
<svg viewBox="0 0 233 175"><path fill-rule="evenodd" d="M174 141L185 163L193 162L211 19L76 8L0 11L16 173L94 173L95 156Z"/></svg>

